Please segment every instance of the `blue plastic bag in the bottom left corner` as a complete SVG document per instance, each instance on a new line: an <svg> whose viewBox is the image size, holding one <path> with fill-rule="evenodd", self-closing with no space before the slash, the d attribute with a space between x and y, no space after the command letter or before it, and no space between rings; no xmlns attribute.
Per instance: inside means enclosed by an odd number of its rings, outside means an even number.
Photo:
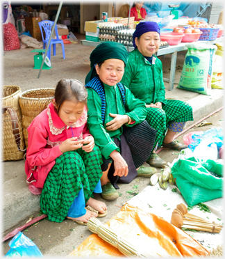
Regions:
<svg viewBox="0 0 225 259"><path fill-rule="evenodd" d="M38 246L22 232L17 233L8 244L10 250L4 257L44 257Z"/></svg>

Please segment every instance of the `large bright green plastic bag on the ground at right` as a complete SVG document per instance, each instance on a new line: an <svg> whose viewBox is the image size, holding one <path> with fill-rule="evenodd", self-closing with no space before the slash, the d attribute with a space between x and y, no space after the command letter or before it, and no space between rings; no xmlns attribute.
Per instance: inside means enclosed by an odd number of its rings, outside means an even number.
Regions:
<svg viewBox="0 0 225 259"><path fill-rule="evenodd" d="M189 206L223 196L223 173L220 160L200 162L195 157L181 157L172 166L172 175L178 189Z"/></svg>

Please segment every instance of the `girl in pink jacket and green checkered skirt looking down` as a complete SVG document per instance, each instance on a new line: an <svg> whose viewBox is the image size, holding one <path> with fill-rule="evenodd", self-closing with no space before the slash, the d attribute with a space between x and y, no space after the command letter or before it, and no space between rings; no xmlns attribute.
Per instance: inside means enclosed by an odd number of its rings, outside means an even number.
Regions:
<svg viewBox="0 0 225 259"><path fill-rule="evenodd" d="M87 97L81 82L60 80L53 101L28 127L26 182L41 190L49 221L86 225L107 213L106 204L91 197L101 193L102 160L87 127Z"/></svg>

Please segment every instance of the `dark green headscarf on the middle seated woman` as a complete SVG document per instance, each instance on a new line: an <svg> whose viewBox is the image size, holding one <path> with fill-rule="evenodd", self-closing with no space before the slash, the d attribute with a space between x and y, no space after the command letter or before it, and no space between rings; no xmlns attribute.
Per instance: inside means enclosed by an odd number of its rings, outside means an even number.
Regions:
<svg viewBox="0 0 225 259"><path fill-rule="evenodd" d="M97 76L97 72L94 68L95 64L106 61L107 59L115 58L124 61L125 65L128 61L128 52L126 47L118 42L107 41L99 44L90 54L90 67L91 70L85 78L85 84L87 84L92 78Z"/></svg>

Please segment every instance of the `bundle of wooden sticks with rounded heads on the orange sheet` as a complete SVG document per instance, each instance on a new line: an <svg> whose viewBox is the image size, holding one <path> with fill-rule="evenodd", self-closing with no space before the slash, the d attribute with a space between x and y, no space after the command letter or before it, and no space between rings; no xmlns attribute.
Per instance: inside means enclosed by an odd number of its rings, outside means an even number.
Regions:
<svg viewBox="0 0 225 259"><path fill-rule="evenodd" d="M211 233L219 233L222 230L222 225L216 224L214 221L211 223L206 219L188 213L188 209L183 203L178 204L172 212L171 223L178 228L189 228Z"/></svg>

